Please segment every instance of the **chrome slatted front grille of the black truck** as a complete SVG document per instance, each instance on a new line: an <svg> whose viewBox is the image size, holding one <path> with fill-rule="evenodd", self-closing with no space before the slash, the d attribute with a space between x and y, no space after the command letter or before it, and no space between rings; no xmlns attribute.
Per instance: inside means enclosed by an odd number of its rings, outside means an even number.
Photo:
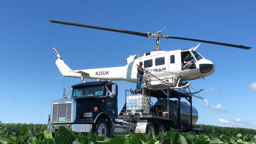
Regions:
<svg viewBox="0 0 256 144"><path fill-rule="evenodd" d="M65 117L65 121L59 121L59 118ZM52 123L71 122L72 121L72 103L53 104L52 105Z"/></svg>

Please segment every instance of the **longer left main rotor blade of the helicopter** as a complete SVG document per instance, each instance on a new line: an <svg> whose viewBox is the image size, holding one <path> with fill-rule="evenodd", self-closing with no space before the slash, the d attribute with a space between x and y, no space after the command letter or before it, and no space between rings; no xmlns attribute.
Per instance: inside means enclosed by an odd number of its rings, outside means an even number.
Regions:
<svg viewBox="0 0 256 144"><path fill-rule="evenodd" d="M138 36L144 36L148 37L148 33L141 33L141 32L135 32L131 30L123 30L123 29L116 29L116 28L109 28L109 27L101 27L101 26L93 26L93 25L85 25L85 24L77 24L77 23L69 23L69 22L62 22L57 20L50 20L51 23L58 23L63 25L72 25L72 26L80 26L80 27L87 27L87 28L94 28L94 29L101 29L101 30L108 30L112 32L119 32L119 33L125 33L125 34L132 34L132 35L138 35Z"/></svg>

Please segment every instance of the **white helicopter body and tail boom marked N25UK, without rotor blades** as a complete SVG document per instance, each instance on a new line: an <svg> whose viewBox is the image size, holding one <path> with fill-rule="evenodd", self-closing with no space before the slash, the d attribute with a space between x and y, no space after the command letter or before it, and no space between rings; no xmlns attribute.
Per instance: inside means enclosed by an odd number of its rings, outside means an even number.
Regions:
<svg viewBox="0 0 256 144"><path fill-rule="evenodd" d="M184 68L183 60L187 54L193 56L190 58L191 61L196 61L191 68ZM143 62L144 69L157 75L159 79L181 78L181 80L193 80L209 76L215 71L214 64L192 48L131 55L126 59L127 65L121 67L71 70L60 57L58 57L56 65L61 74L66 77L83 76L90 79L125 80L136 83L137 65L140 61ZM145 81L145 76L143 81Z"/></svg>

